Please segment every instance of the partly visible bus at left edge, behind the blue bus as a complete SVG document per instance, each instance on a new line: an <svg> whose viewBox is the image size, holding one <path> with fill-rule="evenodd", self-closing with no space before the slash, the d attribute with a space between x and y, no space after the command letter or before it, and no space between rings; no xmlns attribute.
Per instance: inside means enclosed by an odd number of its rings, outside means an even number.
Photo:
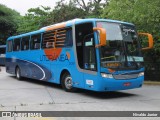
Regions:
<svg viewBox="0 0 160 120"><path fill-rule="evenodd" d="M6 45L0 45L0 66L5 65Z"/></svg>

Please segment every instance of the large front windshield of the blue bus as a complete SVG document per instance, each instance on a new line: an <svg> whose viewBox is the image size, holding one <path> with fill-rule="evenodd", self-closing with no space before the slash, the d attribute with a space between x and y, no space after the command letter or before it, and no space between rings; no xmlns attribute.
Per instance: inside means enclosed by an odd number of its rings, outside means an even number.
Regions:
<svg viewBox="0 0 160 120"><path fill-rule="evenodd" d="M97 27L105 28L106 46L100 48L101 66L112 69L139 69L143 57L138 35L133 25L97 22Z"/></svg>

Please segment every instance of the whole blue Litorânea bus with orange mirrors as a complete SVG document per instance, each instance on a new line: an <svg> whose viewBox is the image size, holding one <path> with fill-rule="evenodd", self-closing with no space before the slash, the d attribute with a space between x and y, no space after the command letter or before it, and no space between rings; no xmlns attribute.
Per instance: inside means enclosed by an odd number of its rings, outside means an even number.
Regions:
<svg viewBox="0 0 160 120"><path fill-rule="evenodd" d="M139 36L147 39L142 48ZM117 91L144 81L142 50L153 47L148 33L132 23L110 19L73 19L7 39L6 72L77 88Z"/></svg>

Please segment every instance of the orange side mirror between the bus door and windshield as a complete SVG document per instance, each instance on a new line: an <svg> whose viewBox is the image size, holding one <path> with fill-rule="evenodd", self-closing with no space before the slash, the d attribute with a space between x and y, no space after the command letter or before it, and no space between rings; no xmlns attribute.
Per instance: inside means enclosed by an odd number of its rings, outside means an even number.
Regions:
<svg viewBox="0 0 160 120"><path fill-rule="evenodd" d="M93 31L99 31L99 39L100 43L96 45L95 47L98 48L100 46L105 46L106 45L106 30L104 28L93 28Z"/></svg>

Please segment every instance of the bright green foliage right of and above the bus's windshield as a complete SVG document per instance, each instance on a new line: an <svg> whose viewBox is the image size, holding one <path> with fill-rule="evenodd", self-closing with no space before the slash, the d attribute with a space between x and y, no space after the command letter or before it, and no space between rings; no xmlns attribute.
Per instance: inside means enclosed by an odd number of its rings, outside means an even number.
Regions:
<svg viewBox="0 0 160 120"><path fill-rule="evenodd" d="M138 31L151 33L154 36L154 49L145 52L145 56L151 61L158 60L156 56L160 56L159 0L110 0L101 17L132 22Z"/></svg>

